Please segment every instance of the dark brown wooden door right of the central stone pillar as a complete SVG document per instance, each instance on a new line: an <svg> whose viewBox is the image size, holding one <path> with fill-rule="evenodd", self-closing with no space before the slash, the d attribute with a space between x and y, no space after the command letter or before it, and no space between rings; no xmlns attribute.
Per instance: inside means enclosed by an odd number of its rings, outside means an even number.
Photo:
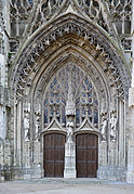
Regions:
<svg viewBox="0 0 134 194"><path fill-rule="evenodd" d="M77 177L96 178L98 158L98 137L96 134L78 134L77 141Z"/></svg>

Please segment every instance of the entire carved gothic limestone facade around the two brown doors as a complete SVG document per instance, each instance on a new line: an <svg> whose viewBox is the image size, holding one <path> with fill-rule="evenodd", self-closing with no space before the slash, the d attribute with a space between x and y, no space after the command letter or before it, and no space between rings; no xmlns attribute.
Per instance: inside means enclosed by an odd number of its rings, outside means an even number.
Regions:
<svg viewBox="0 0 134 194"><path fill-rule="evenodd" d="M0 180L43 178L43 137L98 137L97 178L134 183L133 0L0 0Z"/></svg>

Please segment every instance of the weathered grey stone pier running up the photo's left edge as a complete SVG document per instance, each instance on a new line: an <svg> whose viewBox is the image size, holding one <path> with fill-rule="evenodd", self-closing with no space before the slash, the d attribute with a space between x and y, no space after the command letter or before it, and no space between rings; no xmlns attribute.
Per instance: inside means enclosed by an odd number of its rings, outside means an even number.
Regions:
<svg viewBox="0 0 134 194"><path fill-rule="evenodd" d="M10 93L8 89L8 53L9 53L9 0L0 1L0 180L12 177L12 156L10 134L8 132L8 108Z"/></svg>

